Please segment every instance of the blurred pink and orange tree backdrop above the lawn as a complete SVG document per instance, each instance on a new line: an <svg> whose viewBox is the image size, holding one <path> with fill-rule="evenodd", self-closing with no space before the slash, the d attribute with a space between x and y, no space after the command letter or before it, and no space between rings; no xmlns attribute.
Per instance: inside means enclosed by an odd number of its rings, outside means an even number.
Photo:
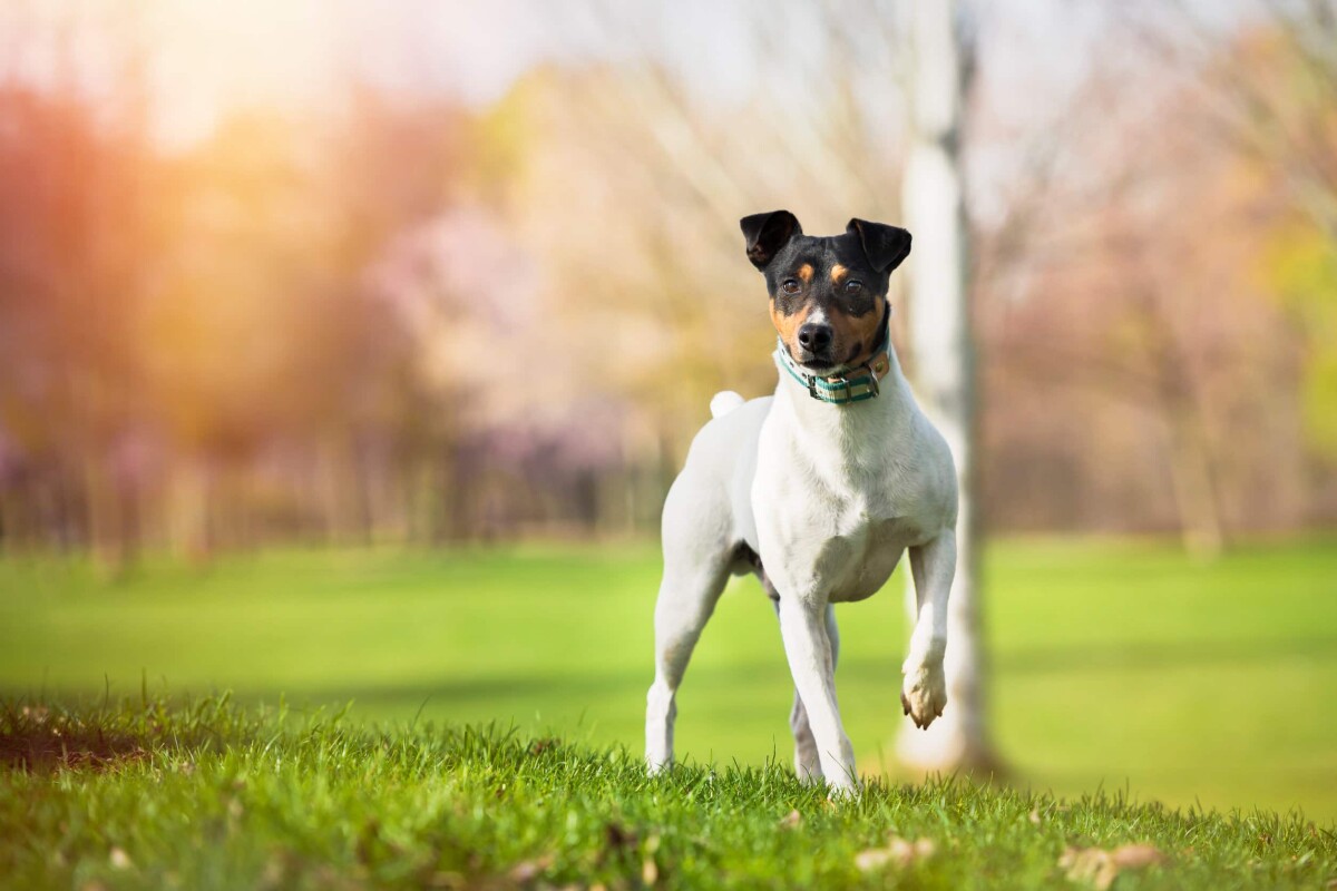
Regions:
<svg viewBox="0 0 1337 891"><path fill-rule="evenodd" d="M898 216L896 4L128 9L5 13L7 548L650 530L771 386L737 218ZM989 526L1330 522L1330 7L1028 9L972 9Z"/></svg>

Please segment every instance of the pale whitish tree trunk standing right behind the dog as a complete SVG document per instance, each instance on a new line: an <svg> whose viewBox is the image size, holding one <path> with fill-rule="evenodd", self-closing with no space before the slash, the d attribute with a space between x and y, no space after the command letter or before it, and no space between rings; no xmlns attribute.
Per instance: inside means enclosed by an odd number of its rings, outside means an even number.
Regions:
<svg viewBox="0 0 1337 891"><path fill-rule="evenodd" d="M961 186L963 57L956 0L912 4L912 146L905 171L909 337L913 377L929 417L956 458L961 510L956 581L948 602L948 705L927 731L909 719L897 743L916 769L996 764L985 732L975 522L975 361L968 306L968 232ZM906 573L909 576L909 573ZM915 612L913 580L909 582Z"/></svg>

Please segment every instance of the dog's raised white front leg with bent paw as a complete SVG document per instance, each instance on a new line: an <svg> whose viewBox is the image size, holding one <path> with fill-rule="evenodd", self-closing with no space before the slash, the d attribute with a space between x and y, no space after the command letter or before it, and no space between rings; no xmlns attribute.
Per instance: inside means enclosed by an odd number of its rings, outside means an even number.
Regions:
<svg viewBox="0 0 1337 891"><path fill-rule="evenodd" d="M956 576L956 532L944 529L937 538L909 549L915 574L917 614L910 649L901 671L901 705L916 727L928 727L947 705L947 598Z"/></svg>

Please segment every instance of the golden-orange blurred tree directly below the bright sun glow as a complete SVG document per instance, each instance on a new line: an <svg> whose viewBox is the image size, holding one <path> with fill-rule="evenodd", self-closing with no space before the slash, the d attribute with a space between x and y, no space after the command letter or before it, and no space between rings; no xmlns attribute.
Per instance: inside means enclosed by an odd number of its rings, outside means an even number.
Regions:
<svg viewBox="0 0 1337 891"><path fill-rule="evenodd" d="M241 492L218 484L273 439L316 431L350 373L330 208L302 146L289 122L238 114L156 190L164 250L136 346L172 445L168 532L197 558L245 538L229 520L246 513Z"/></svg>

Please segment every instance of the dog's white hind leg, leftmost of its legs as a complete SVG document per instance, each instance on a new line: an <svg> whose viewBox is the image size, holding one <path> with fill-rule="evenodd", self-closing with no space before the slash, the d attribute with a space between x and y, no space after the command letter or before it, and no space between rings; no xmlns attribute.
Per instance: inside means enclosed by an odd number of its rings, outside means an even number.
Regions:
<svg viewBox="0 0 1337 891"><path fill-rule="evenodd" d="M655 681L646 696L646 763L651 773L673 764L673 724L678 715L674 699L727 580L726 554L705 566L677 565L666 554L655 602Z"/></svg>

